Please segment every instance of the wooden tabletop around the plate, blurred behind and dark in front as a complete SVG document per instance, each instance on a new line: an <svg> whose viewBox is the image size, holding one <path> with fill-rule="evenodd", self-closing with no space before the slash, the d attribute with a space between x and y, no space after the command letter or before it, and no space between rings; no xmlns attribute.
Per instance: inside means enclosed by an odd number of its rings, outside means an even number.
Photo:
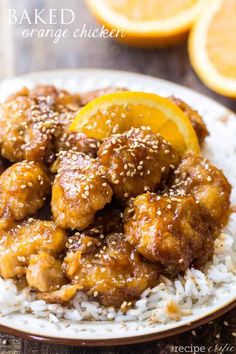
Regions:
<svg viewBox="0 0 236 354"><path fill-rule="evenodd" d="M96 1L96 0L95 0ZM88 13L82 0L0 0L0 6L16 8L20 13L24 8L32 13L34 8L70 8L76 13L77 20L74 27L86 24L88 27L97 27L92 16ZM0 8L0 13L2 9ZM122 47L109 39L64 39L53 44L51 39L23 39L21 31L24 26L5 24L1 31L5 39L4 56L0 56L0 77L28 73L37 70L49 70L65 67L107 68L138 72L160 77L172 82L190 87L206 94L236 111L236 101L220 97L209 91L196 77L189 64L186 43L168 49L139 50ZM4 33L5 32L5 33ZM1 39L3 43L3 39ZM117 348L73 348L45 345L37 342L25 341L19 338L0 334L0 353L22 354L61 354L61 353L173 353L177 345L205 346L205 352L221 353L220 346L234 346L236 352L236 310L233 310L211 324L205 325L195 332L187 332L169 339L147 344L132 345ZM226 322L225 322L226 321ZM214 347L217 345L217 347ZM190 349L190 350L189 350ZM186 347L189 353L194 350ZM180 351L179 351L180 352ZM197 349L195 350L197 353Z"/></svg>

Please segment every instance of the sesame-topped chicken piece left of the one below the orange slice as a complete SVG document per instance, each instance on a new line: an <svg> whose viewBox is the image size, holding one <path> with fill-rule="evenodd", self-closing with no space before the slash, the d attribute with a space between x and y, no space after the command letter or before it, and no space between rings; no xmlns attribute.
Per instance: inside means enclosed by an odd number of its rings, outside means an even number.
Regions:
<svg viewBox="0 0 236 354"><path fill-rule="evenodd" d="M112 189L97 160L75 151L60 154L51 201L58 226L85 229L93 222L95 213L111 199Z"/></svg>

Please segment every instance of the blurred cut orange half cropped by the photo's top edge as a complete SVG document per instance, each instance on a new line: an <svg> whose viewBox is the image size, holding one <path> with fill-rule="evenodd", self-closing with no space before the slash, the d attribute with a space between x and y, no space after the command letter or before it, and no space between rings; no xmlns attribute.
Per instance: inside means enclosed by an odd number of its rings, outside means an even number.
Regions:
<svg viewBox="0 0 236 354"><path fill-rule="evenodd" d="M86 0L97 20L112 31L114 38L141 47L181 41L207 1Z"/></svg>

